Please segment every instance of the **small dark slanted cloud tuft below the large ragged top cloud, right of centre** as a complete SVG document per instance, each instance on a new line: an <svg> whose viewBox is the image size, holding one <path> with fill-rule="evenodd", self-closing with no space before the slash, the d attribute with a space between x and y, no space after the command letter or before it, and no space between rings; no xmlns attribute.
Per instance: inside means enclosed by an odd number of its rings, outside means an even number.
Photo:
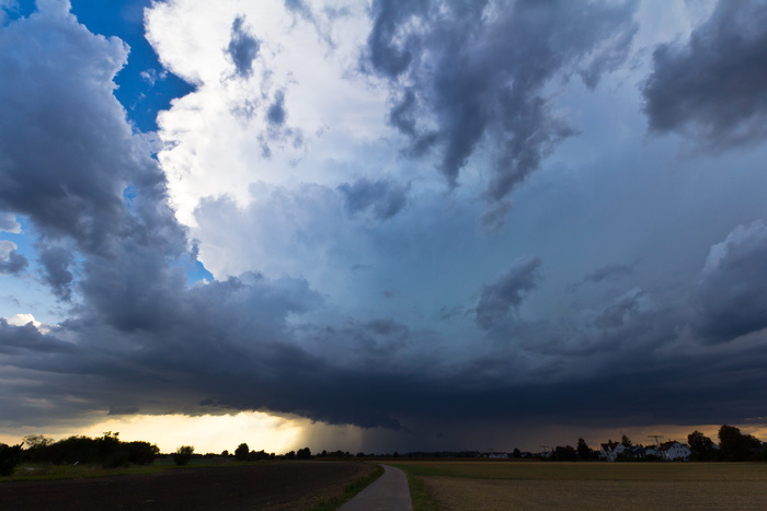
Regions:
<svg viewBox="0 0 767 511"><path fill-rule="evenodd" d="M482 288L474 310L474 321L480 328L492 328L511 311L519 307L525 297L540 282L540 264L538 257L520 259L497 281Z"/></svg>

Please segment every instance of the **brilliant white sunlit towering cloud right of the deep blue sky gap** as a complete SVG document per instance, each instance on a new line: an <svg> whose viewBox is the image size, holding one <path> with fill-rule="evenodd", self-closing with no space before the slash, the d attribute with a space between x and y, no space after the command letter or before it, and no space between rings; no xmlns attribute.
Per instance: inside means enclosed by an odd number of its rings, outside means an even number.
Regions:
<svg viewBox="0 0 767 511"><path fill-rule="evenodd" d="M194 225L192 213L205 197L228 195L245 206L252 183L335 185L366 171L329 164L366 152L388 131L386 94L353 77L367 27L360 5L354 11L333 21L334 47L276 2L214 8L178 0L148 11L148 38L161 61L197 84L159 117L165 143L159 158L180 220ZM260 42L250 78L236 76L226 53L238 18ZM283 132L274 133L266 112L281 92L287 115Z"/></svg>

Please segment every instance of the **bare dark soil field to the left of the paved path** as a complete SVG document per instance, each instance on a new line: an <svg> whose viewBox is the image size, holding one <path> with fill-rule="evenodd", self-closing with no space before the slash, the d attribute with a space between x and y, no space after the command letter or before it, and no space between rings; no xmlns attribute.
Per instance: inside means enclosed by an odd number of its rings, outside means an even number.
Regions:
<svg viewBox="0 0 767 511"><path fill-rule="evenodd" d="M159 474L0 484L0 510L299 510L375 469L344 462L188 467Z"/></svg>

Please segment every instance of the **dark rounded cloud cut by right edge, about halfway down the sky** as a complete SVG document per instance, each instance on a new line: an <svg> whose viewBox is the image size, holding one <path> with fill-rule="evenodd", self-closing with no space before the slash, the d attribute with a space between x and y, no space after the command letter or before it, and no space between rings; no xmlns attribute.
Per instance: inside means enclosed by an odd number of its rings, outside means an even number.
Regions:
<svg viewBox="0 0 767 511"><path fill-rule="evenodd" d="M767 328L767 227L739 227L711 248L697 289L700 335L714 341Z"/></svg>

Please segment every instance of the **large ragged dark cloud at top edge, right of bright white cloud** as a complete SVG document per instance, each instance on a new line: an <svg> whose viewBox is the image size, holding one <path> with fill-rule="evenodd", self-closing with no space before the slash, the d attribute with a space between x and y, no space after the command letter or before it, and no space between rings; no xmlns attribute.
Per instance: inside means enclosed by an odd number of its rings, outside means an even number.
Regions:
<svg viewBox="0 0 767 511"><path fill-rule="evenodd" d="M576 131L545 86L579 73L594 88L622 62L633 3L377 1L363 68L388 79L389 120L421 154L437 148L450 186L480 143L492 150L485 191L502 200Z"/></svg>

